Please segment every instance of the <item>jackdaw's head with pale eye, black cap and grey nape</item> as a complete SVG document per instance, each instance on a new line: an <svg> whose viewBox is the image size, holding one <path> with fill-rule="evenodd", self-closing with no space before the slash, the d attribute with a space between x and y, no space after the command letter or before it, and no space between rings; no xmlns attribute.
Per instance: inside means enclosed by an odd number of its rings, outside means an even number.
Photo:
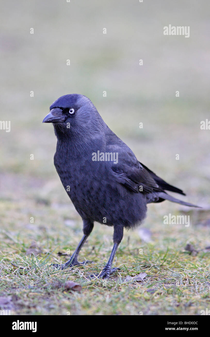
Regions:
<svg viewBox="0 0 210 337"><path fill-rule="evenodd" d="M91 100L83 95L70 94L59 97L50 106L50 113L42 123L53 123L56 136L83 135L90 138L106 125Z"/></svg>

